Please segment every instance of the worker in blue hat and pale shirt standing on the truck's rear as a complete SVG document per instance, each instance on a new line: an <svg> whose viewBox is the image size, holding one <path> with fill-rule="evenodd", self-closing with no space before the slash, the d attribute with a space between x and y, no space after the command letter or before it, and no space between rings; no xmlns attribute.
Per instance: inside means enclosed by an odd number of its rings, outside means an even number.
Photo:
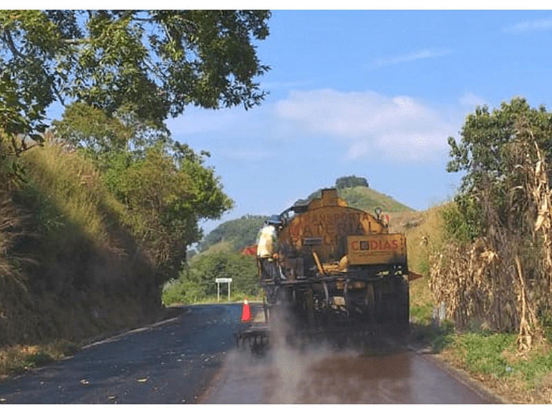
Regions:
<svg viewBox="0 0 552 414"><path fill-rule="evenodd" d="M264 222L257 235L257 268L261 279L275 280L278 268L278 231L282 228L279 216L272 216Z"/></svg>

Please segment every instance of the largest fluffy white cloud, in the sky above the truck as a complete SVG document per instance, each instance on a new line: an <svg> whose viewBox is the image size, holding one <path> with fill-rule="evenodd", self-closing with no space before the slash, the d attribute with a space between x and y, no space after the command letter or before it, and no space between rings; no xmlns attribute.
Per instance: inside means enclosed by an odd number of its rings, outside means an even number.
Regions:
<svg viewBox="0 0 552 414"><path fill-rule="evenodd" d="M331 89L294 91L276 105L281 122L295 135L342 141L351 159L385 157L422 161L441 156L457 130L432 108L411 97Z"/></svg>

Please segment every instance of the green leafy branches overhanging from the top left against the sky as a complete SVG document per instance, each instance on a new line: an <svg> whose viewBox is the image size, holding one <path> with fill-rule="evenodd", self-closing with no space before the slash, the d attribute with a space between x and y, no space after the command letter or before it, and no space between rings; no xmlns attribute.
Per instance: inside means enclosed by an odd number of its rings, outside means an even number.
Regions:
<svg viewBox="0 0 552 414"><path fill-rule="evenodd" d="M188 105L259 104L267 10L1 10L0 127L40 141L46 108L83 101L158 128Z"/></svg>

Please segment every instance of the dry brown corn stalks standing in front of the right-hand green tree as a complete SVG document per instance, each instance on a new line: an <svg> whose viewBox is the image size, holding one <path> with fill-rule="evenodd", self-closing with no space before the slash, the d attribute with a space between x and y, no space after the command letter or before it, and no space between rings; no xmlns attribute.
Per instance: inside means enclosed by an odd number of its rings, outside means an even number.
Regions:
<svg viewBox="0 0 552 414"><path fill-rule="evenodd" d="M430 284L457 326L517 331L518 351L526 353L543 337L538 310L550 308L552 201L546 160L531 128L524 120L517 126L504 155L511 173L502 187L488 179L478 189L484 237L433 255ZM492 200L504 183L510 191L499 213Z"/></svg>

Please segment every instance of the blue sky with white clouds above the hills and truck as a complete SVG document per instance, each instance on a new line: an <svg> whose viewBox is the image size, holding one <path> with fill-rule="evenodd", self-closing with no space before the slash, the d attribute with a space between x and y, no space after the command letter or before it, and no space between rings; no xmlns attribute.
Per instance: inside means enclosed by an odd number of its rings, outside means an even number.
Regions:
<svg viewBox="0 0 552 414"><path fill-rule="evenodd" d="M269 26L262 106L168 120L235 201L206 232L344 175L424 210L454 195L446 141L477 105L552 106L552 11L275 10Z"/></svg>

